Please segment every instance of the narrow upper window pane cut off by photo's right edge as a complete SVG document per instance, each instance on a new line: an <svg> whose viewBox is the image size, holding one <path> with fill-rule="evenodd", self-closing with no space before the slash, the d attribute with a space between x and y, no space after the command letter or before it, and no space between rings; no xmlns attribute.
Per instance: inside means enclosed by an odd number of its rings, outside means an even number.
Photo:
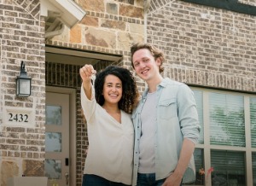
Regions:
<svg viewBox="0 0 256 186"><path fill-rule="evenodd" d="M250 119L251 119L252 148L256 148L256 98L255 97L250 98Z"/></svg>

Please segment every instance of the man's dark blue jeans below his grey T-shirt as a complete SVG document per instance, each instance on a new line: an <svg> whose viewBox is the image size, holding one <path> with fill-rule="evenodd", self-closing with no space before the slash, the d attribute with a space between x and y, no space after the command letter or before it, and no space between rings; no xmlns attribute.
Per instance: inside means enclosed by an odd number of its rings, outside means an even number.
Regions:
<svg viewBox="0 0 256 186"><path fill-rule="evenodd" d="M161 186L165 179L155 180L155 173L141 174L137 173L137 186ZM180 184L182 185L182 184Z"/></svg>

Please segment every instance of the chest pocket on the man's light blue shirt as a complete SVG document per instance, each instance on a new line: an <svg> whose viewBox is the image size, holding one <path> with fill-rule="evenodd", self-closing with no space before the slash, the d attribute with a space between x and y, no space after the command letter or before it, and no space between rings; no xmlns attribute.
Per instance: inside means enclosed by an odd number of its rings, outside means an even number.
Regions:
<svg viewBox="0 0 256 186"><path fill-rule="evenodd" d="M166 99L159 103L160 119L171 119L177 116L176 98Z"/></svg>

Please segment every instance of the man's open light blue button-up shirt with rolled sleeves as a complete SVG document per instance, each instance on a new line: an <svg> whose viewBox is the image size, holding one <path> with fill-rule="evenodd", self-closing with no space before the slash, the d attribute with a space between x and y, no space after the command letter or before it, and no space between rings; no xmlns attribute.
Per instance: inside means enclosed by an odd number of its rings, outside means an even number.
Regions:
<svg viewBox="0 0 256 186"><path fill-rule="evenodd" d="M170 176L177 166L183 138L198 141L200 125L193 91L186 84L164 78L157 86L156 135L154 145L155 179ZM139 166L139 143L141 137L141 113L148 90L143 92L141 101L132 113L135 127L134 165L132 185L137 185ZM195 161L192 156L183 175L183 183L195 180Z"/></svg>

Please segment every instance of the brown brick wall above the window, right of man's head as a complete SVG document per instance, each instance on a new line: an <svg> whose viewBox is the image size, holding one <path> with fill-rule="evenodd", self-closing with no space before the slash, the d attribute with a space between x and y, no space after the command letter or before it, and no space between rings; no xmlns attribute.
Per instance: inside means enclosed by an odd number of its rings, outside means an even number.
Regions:
<svg viewBox="0 0 256 186"><path fill-rule="evenodd" d="M166 54L164 76L187 84L256 91L255 16L154 0L147 20L148 43Z"/></svg>

